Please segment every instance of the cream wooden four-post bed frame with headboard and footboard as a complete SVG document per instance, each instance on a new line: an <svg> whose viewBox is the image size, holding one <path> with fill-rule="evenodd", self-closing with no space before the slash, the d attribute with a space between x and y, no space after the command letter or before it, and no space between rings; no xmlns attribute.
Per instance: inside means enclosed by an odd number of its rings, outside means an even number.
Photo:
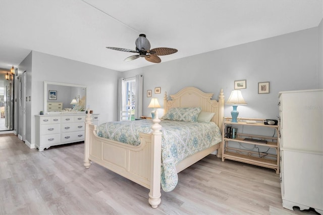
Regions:
<svg viewBox="0 0 323 215"><path fill-rule="evenodd" d="M168 100L167 93L164 96L165 113L171 108L198 107L202 111L215 113L212 122L222 130L224 114L224 94L221 89L219 101L211 100L213 93L204 93L195 87L186 87L171 96ZM89 110L88 110L88 113ZM140 134L140 145L129 144L98 137L96 126L91 124L91 114L85 118L85 141L84 141L84 166L89 168L91 162L95 162L137 184L149 191L148 202L156 208L160 203L160 166L161 166L161 125L158 116L152 120L151 134ZM221 143L200 151L180 162L176 166L177 172L181 172L193 165L211 152L218 150L218 157L222 155Z"/></svg>

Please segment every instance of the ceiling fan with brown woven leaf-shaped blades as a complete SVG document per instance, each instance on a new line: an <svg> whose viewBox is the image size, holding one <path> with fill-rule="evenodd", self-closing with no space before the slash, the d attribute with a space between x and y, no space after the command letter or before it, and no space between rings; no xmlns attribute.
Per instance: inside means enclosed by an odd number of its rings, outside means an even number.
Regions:
<svg viewBox="0 0 323 215"><path fill-rule="evenodd" d="M175 48L160 47L160 48L150 49L150 42L146 38L145 34L139 34L139 37L136 39L136 50L131 50L127 48L116 48L116 47L106 47L106 48L110 48L118 51L138 53L138 55L130 56L126 58L124 61L132 61L132 60L136 60L139 57L142 57L152 63L161 62L161 59L158 56L171 55L172 53L177 52L177 49Z"/></svg>

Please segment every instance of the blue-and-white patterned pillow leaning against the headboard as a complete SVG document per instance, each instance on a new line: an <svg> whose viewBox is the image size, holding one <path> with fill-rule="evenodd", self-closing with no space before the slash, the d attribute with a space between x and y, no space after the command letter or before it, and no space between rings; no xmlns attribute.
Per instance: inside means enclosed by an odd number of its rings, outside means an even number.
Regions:
<svg viewBox="0 0 323 215"><path fill-rule="evenodd" d="M196 122L198 114L201 112L201 108L172 108L165 116L164 120Z"/></svg>

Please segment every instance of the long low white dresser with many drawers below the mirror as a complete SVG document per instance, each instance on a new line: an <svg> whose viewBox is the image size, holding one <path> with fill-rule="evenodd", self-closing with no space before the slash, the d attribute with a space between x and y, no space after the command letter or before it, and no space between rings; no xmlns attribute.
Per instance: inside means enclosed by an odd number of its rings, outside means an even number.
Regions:
<svg viewBox="0 0 323 215"><path fill-rule="evenodd" d="M83 141L84 121L85 114L36 115L36 148ZM92 121L98 125L99 115L92 114Z"/></svg>

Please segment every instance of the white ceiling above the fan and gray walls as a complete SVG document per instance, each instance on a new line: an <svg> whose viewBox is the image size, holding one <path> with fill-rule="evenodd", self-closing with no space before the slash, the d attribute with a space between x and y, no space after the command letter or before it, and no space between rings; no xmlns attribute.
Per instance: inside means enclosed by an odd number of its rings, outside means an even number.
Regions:
<svg viewBox="0 0 323 215"><path fill-rule="evenodd" d="M153 63L123 60L139 33L151 48L178 52L161 63L318 26L322 0L0 0L0 68L30 50L117 71Z"/></svg>

